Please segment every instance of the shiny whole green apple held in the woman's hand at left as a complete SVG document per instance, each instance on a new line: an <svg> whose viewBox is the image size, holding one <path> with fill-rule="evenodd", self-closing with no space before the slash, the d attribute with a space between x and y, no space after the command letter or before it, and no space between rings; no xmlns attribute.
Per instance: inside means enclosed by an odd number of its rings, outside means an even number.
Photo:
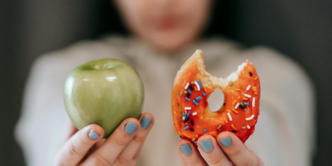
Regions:
<svg viewBox="0 0 332 166"><path fill-rule="evenodd" d="M64 103L74 126L100 125L107 138L129 117L138 119L144 100L141 78L128 63L117 59L87 62L70 72Z"/></svg>

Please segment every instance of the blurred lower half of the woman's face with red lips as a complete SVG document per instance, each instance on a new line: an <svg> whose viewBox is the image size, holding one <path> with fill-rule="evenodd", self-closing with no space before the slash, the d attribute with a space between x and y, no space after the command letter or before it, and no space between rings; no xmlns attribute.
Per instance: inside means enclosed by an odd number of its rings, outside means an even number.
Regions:
<svg viewBox="0 0 332 166"><path fill-rule="evenodd" d="M136 37L164 51L195 40L211 8L211 0L116 0L116 4Z"/></svg>

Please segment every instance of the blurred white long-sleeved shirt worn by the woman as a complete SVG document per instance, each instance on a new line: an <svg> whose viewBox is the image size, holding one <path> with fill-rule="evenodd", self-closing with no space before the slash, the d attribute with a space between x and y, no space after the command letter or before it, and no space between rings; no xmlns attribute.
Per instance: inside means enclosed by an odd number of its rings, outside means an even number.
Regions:
<svg viewBox="0 0 332 166"><path fill-rule="evenodd" d="M141 76L145 100L142 112L155 117L137 165L181 165L177 152L180 139L173 128L170 94L177 71L202 49L209 73L226 77L249 59L261 82L260 116L246 145L267 166L308 166L314 150L315 100L311 80L291 59L277 51L241 45L221 39L189 44L179 52L166 54L135 39L108 36L82 41L41 56L33 65L24 93L22 116L16 138L29 166L53 165L63 143L67 114L63 102L64 82L76 66L100 58L117 58L130 63ZM210 105L223 101L209 98Z"/></svg>

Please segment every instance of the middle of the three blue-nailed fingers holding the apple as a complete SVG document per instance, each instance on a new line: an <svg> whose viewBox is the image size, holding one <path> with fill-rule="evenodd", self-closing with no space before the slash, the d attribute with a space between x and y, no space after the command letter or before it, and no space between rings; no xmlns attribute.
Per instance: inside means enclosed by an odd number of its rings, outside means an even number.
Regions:
<svg viewBox="0 0 332 166"><path fill-rule="evenodd" d="M135 118L124 120L104 143L83 163L83 166L112 165L120 152L137 134L141 125Z"/></svg>

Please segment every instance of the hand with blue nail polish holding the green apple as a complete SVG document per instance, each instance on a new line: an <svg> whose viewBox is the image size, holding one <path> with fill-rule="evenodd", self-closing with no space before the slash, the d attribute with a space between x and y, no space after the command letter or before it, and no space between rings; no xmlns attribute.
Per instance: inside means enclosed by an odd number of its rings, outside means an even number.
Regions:
<svg viewBox="0 0 332 166"><path fill-rule="evenodd" d="M69 131L70 138L58 152L55 165L135 165L153 123L153 116L148 113L143 113L139 121L128 118L107 139L103 139L104 130L99 125L88 125L80 131L72 125Z"/></svg>

